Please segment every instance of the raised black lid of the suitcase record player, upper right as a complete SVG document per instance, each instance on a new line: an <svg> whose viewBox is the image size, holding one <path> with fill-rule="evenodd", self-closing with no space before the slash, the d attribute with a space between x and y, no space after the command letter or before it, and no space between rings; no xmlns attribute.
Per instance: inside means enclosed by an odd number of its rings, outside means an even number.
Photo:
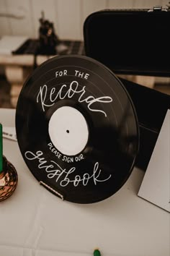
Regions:
<svg viewBox="0 0 170 256"><path fill-rule="evenodd" d="M170 76L169 9L107 9L84 22L87 56L117 74Z"/></svg>

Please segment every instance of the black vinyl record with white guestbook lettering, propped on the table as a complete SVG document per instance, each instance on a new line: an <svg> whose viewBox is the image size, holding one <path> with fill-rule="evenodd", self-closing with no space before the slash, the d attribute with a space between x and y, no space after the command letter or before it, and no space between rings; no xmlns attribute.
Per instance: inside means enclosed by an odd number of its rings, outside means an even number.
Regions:
<svg viewBox="0 0 170 256"><path fill-rule="evenodd" d="M38 182L71 202L115 194L138 153L130 96L115 74L86 56L57 56L35 69L19 95L16 129Z"/></svg>

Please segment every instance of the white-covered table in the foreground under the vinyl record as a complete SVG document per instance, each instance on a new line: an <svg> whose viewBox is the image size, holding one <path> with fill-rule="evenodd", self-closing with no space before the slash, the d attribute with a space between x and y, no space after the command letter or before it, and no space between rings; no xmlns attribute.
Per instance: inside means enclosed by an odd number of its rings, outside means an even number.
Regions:
<svg viewBox="0 0 170 256"><path fill-rule="evenodd" d="M0 121L14 126L14 109ZM62 201L41 187L28 170L17 142L4 139L4 155L17 169L14 194L0 202L1 256L169 256L170 215L138 197L143 171L107 200L89 205Z"/></svg>

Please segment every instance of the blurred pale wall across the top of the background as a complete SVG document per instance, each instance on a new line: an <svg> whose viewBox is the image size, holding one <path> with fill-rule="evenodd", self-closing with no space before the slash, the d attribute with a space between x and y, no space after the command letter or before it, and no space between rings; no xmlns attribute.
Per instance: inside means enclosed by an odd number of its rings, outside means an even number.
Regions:
<svg viewBox="0 0 170 256"><path fill-rule="evenodd" d="M27 35L37 38L41 11L55 25L61 39L83 39L86 17L107 8L151 8L168 0L0 0L0 36ZM14 17L4 17L12 14ZM3 15L3 17L2 17Z"/></svg>

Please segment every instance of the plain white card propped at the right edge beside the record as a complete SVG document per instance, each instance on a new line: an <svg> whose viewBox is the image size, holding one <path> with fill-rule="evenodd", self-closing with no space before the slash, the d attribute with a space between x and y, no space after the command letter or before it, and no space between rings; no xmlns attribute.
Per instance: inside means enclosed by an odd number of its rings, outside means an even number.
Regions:
<svg viewBox="0 0 170 256"><path fill-rule="evenodd" d="M166 112L138 196L170 212L170 110Z"/></svg>

